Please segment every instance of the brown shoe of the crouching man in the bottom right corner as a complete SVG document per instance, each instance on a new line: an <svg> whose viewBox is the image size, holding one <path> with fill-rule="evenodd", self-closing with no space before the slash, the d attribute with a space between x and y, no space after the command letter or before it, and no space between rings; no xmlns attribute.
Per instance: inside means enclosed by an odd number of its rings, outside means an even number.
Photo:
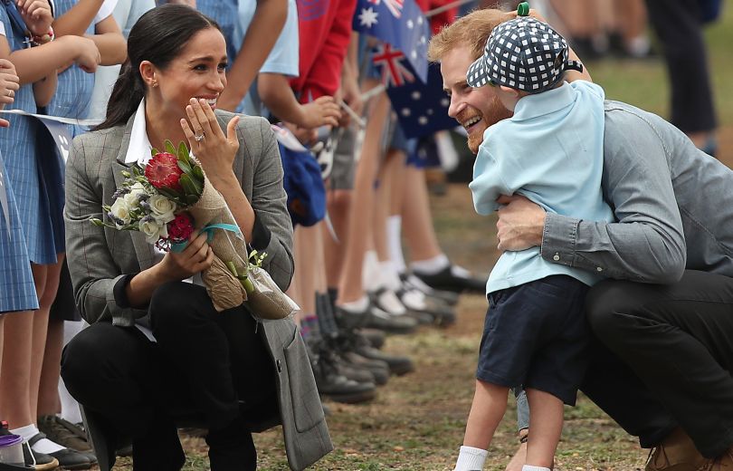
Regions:
<svg viewBox="0 0 733 471"><path fill-rule="evenodd" d="M678 427L652 448L644 471L708 471L712 461L700 455L692 439Z"/></svg>

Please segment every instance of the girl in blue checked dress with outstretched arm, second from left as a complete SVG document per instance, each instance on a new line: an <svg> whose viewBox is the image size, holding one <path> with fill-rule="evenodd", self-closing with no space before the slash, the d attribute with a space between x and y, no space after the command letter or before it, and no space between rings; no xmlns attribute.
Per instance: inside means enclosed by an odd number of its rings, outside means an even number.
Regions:
<svg viewBox="0 0 733 471"><path fill-rule="evenodd" d="M8 108L36 112L50 101L56 87L56 71L76 63L93 72L100 63L100 51L90 39L66 36L54 40L52 15L46 2L7 2L0 5L0 56L14 63L21 88ZM26 31L32 37L26 37ZM35 44L29 47L30 44ZM63 256L63 224L59 199L62 195L62 166L49 159L37 137L43 126L35 119L14 116L13 126L0 133L0 153L5 160L5 178L13 187L15 203L23 224L25 245L31 261L33 281L40 309L33 313L5 314L3 364L0 367L0 416L10 431L24 438L26 464L36 469L58 466L90 467L91 461L43 437L36 427L37 399L48 315L58 284ZM42 165L43 162L43 165Z"/></svg>

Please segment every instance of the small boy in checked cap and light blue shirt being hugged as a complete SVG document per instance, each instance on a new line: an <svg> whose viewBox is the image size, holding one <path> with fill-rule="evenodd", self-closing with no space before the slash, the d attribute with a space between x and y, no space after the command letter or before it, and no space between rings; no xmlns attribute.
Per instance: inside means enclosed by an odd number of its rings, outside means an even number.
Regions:
<svg viewBox="0 0 733 471"><path fill-rule="evenodd" d="M497 26L471 64L469 86L490 85L514 112L484 132L469 186L479 214L496 210L501 195L519 193L547 211L613 220L601 193L604 91L585 80L565 82L566 71L577 71L568 79L584 77L569 55L565 39L547 24L518 17ZM527 390L531 422L522 469L552 468L563 403L575 405L585 373L585 293L599 280L546 262L538 247L501 255L486 284L490 308L455 471L481 470L509 389L519 386Z"/></svg>

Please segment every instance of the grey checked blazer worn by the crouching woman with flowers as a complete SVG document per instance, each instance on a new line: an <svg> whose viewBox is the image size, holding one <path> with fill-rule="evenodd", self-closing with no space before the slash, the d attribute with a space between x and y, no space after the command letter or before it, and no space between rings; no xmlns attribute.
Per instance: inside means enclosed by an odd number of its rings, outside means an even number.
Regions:
<svg viewBox="0 0 733 471"><path fill-rule="evenodd" d="M232 113L216 111L222 129ZM136 274L152 264L152 251L139 232L117 231L90 223L102 217L101 205L112 204L112 193L122 181L120 172L129 147L135 118L127 126L88 132L77 137L66 167L66 254L74 297L87 322L112 322L132 327L147 310L120 307L114 285L124 274ZM263 267L283 289L290 284L292 226L282 165L274 134L267 120L242 117L237 127L240 148L233 169L256 217L271 232ZM290 468L303 469L333 449L320 404L308 354L295 323L265 322L262 335L277 370L285 448ZM92 440L93 441L93 440Z"/></svg>

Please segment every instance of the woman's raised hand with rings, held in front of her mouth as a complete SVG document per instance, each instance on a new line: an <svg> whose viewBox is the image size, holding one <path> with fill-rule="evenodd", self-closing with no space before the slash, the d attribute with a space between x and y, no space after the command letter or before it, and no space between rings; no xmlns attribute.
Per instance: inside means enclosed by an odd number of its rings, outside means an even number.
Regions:
<svg viewBox="0 0 733 471"><path fill-rule="evenodd" d="M201 162L206 176L214 187L218 182L231 181L234 177L234 156L239 150L237 139L237 123L239 116L234 116L226 125L226 136L214 110L204 100L192 98L186 106L188 120L181 120L181 128L186 134L188 145L196 159Z"/></svg>

